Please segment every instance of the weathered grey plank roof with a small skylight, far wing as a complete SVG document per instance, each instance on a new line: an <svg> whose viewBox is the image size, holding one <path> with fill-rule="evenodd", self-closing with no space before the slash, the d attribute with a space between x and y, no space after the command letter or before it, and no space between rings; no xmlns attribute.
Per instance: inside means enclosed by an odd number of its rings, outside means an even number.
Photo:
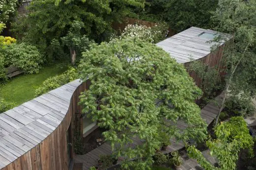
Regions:
<svg viewBox="0 0 256 170"><path fill-rule="evenodd" d="M157 46L168 52L178 63L187 63L211 53L211 46L214 43L209 43L209 41L213 40L216 33L216 31L210 29L192 26L157 43Z"/></svg>

